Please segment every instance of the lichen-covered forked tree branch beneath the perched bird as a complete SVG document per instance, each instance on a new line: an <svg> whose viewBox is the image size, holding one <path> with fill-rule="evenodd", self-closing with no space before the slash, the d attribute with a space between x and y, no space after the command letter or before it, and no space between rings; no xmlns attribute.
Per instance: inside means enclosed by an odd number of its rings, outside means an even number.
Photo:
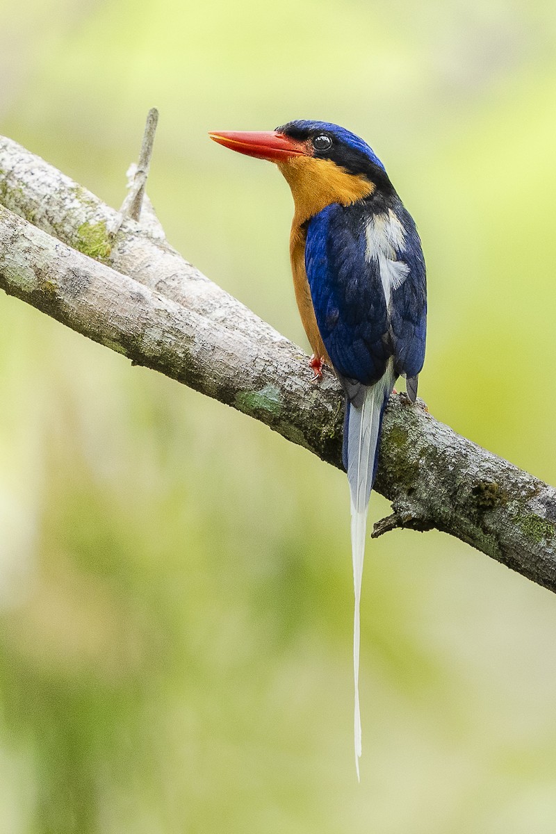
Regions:
<svg viewBox="0 0 556 834"><path fill-rule="evenodd" d="M333 374L313 384L303 351L184 261L156 222L120 225L118 212L7 138L0 203L8 294L341 465ZM556 590L556 490L403 394L388 405L376 489L393 515L373 535L438 528Z"/></svg>

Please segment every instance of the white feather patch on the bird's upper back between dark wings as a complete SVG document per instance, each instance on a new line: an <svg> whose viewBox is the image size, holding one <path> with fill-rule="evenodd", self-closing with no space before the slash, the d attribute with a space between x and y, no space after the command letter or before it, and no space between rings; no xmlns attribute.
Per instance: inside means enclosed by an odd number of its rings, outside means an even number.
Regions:
<svg viewBox="0 0 556 834"><path fill-rule="evenodd" d="M380 280L383 284L386 307L389 309L393 289L398 289L408 277L409 267L397 260L397 253L405 251L405 236L402 224L391 209L388 214L375 214L368 220L367 263L378 261Z"/></svg>

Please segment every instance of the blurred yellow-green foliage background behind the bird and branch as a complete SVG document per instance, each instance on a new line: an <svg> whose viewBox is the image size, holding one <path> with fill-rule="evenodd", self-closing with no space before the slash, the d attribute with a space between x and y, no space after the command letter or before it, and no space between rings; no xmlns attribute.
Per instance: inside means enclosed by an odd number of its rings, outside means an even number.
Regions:
<svg viewBox="0 0 556 834"><path fill-rule="evenodd" d="M367 138L428 262L420 393L556 482L553 0L0 12L0 132L118 206L158 106L168 238L299 344L288 188L207 132ZM553 834L556 598L446 535L368 542L358 785L348 503L308 452L2 295L1 834Z"/></svg>

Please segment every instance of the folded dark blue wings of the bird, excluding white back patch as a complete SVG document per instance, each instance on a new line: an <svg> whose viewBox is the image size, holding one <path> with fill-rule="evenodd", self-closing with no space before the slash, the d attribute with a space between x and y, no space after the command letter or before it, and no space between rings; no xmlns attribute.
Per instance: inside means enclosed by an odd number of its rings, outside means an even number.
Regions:
<svg viewBox="0 0 556 834"><path fill-rule="evenodd" d="M391 356L396 376L416 377L423 367L423 253L413 219L398 198L393 208L403 228L403 247L393 258L408 272L392 289L388 308L379 260L367 251L368 205L333 203L308 223L305 267L318 329L340 378L363 385L381 379Z"/></svg>

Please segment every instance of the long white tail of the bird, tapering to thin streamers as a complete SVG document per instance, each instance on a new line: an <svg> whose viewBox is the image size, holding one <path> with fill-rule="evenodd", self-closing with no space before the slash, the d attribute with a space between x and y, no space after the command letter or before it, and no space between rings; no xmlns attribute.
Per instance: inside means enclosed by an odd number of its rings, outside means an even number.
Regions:
<svg viewBox="0 0 556 834"><path fill-rule="evenodd" d="M373 488L378 440L384 406L394 384L391 364L388 364L382 379L370 385L365 391L363 404L356 408L348 403L348 480L351 491L352 515L352 556L353 590L355 610L353 613L353 676L355 680L355 767L359 779L359 758L361 756L361 712L359 710L359 608L361 603L361 581L363 578L363 557L365 555L365 532L367 530L368 500Z"/></svg>

